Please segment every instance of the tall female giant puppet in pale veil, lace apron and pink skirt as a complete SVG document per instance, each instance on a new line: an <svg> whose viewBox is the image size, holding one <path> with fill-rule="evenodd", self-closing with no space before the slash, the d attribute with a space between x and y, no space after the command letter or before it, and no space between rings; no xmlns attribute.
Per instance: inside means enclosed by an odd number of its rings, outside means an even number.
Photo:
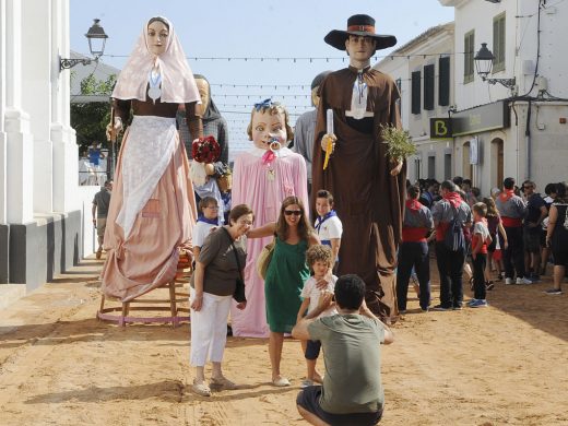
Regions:
<svg viewBox="0 0 568 426"><path fill-rule="evenodd" d="M144 26L113 98L114 130L120 130L130 109L133 119L116 169L102 288L128 301L175 276L178 248L190 246L196 217L176 111L186 104L193 134L201 137L200 96L169 21L153 17Z"/></svg>

